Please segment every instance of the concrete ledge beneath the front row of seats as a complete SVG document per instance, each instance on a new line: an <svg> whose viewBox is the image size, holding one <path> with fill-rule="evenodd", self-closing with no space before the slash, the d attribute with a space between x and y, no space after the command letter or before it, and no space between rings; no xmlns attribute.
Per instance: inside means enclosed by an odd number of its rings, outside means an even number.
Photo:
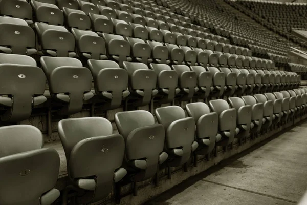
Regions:
<svg viewBox="0 0 307 205"><path fill-rule="evenodd" d="M289 122L286 125L283 125L279 128L276 128L275 130L269 131L268 133L264 135L260 135L257 138L250 139L248 138L247 141L239 146L238 143L234 142L233 148L228 149L226 152L222 149L222 147L218 147L218 153L217 157L211 157L211 160L207 160L205 156L198 155L198 165L197 167L193 166L192 159L189 161L188 171L184 172L183 167L176 167L172 168L172 175L171 179L167 179L167 169L161 168L159 170L159 185L155 185L155 179L148 179L146 181L138 182L138 196L133 196L133 186L129 183L127 185L123 185L121 187L121 203L120 204L143 204L144 202L155 198L159 194L171 189L172 187L179 185L184 180L187 180L189 177L198 175L210 167L213 167L214 165L217 165L221 161L230 158L236 154L239 154L243 152L244 150L247 150L251 148L254 145L259 144L260 142L269 139L273 136L278 136L281 134L281 132L290 130L293 126L300 124L304 119L307 118L307 115L297 118L292 122ZM52 144L46 144L45 147L52 147L58 151L61 157L61 165L60 165L60 173L59 173L59 179L57 182L57 189L63 190L64 187L67 185L67 167L66 167L66 160L65 160L65 154L61 145L60 141L53 142ZM96 203L93 203L93 205L98 204L116 204L114 200L115 192L113 191L107 198L105 198L103 201L99 201Z"/></svg>

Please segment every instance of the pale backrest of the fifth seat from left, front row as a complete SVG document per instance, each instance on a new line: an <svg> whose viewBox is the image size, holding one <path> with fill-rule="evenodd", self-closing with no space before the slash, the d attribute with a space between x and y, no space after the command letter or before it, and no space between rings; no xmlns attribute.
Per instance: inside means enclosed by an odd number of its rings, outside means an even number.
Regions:
<svg viewBox="0 0 307 205"><path fill-rule="evenodd" d="M189 103L189 104L186 104L185 107L186 107L188 115L190 117L194 118L195 124L197 123L198 119L201 116L210 113L209 106L207 104L201 103L201 102Z"/></svg>

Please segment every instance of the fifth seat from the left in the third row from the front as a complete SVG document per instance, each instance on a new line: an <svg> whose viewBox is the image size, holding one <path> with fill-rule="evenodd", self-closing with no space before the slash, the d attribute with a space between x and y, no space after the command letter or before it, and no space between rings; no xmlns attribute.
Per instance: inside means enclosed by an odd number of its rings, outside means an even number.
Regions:
<svg viewBox="0 0 307 205"><path fill-rule="evenodd" d="M131 54L136 61L144 64L149 64L152 62L152 59L150 59L151 48L144 42L144 40L127 37L127 41L131 47Z"/></svg>

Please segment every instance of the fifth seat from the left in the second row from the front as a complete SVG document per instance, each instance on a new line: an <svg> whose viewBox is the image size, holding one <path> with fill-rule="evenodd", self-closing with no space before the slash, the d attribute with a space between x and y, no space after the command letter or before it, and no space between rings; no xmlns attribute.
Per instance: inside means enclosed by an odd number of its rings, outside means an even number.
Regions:
<svg viewBox="0 0 307 205"><path fill-rule="evenodd" d="M150 69L157 74L157 89L161 103L171 103L180 92L178 88L178 74L166 64L150 64Z"/></svg>

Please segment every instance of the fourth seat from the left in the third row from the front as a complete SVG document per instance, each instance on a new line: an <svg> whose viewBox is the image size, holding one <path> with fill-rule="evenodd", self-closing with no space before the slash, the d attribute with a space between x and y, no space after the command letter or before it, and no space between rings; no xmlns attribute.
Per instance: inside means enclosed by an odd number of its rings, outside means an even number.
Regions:
<svg viewBox="0 0 307 205"><path fill-rule="evenodd" d="M103 38L106 42L109 57L116 60L121 68L124 61L132 60L130 45L122 36L103 33Z"/></svg>

